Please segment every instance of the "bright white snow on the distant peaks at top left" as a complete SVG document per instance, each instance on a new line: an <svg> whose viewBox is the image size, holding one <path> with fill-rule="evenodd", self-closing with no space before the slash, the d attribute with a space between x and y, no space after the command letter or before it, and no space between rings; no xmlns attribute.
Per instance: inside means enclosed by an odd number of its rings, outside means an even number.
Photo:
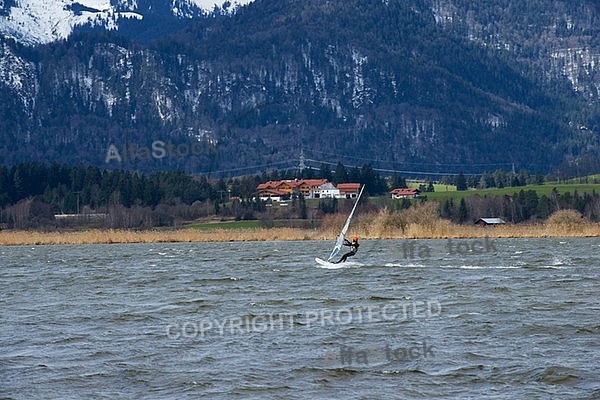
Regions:
<svg viewBox="0 0 600 400"><path fill-rule="evenodd" d="M178 18L184 15L182 5L186 2L202 10L212 11L215 5L227 10L235 10L238 5L252 0L223 2L221 0L163 0L172 14ZM136 0L0 0L0 35L18 42L35 45L49 43L68 37L76 26L101 26L108 30L118 29L119 20L124 18L142 19ZM151 7L151 6L150 6Z"/></svg>

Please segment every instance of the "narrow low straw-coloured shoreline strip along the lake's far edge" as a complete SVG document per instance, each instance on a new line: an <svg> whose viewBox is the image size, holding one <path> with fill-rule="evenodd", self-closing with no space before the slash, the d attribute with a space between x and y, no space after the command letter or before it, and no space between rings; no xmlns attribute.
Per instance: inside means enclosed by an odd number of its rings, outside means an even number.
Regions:
<svg viewBox="0 0 600 400"><path fill-rule="evenodd" d="M355 233L361 240L401 239L469 239L469 238L551 238L600 237L600 224L584 226L509 225L501 227L472 227L440 223L433 226L409 225L403 230L371 230L357 227ZM92 229L79 231L0 231L0 246L40 246L76 244L128 244L128 243L206 243L249 242L270 240L335 240L338 232L331 229L258 228L258 229L170 229L126 230Z"/></svg>

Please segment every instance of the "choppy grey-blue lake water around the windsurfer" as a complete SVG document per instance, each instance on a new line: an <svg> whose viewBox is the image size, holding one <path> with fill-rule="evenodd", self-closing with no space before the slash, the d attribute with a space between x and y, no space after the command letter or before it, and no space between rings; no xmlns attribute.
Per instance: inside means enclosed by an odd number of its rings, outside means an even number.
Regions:
<svg viewBox="0 0 600 400"><path fill-rule="evenodd" d="M598 238L331 245L0 247L0 398L600 398Z"/></svg>

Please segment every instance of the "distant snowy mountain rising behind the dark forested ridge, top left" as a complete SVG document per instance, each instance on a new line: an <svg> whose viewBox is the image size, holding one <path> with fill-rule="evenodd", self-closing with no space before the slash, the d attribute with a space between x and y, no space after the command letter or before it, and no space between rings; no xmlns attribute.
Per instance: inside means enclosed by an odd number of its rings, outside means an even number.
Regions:
<svg viewBox="0 0 600 400"><path fill-rule="evenodd" d="M135 31L139 39L149 39L249 1L217 6L217 0L2 0L0 34L29 45L66 39L86 28Z"/></svg>

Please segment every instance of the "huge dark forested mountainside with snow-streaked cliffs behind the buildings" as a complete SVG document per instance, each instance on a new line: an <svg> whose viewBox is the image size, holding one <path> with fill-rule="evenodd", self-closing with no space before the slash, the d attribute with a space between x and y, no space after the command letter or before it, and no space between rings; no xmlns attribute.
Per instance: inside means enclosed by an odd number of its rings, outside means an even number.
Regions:
<svg viewBox="0 0 600 400"><path fill-rule="evenodd" d="M44 45L4 38L0 158L234 175L301 153L413 175L594 170L599 10L578 4L256 0L153 40L133 20ZM182 151L124 160L169 140ZM202 154L185 153L197 140Z"/></svg>

